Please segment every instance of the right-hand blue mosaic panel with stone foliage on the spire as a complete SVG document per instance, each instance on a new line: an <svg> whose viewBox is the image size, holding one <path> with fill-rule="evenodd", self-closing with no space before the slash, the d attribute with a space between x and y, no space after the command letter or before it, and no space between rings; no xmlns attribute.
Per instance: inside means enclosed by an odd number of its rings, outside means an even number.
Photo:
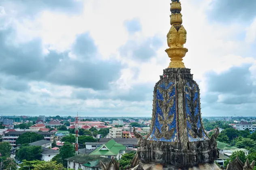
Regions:
<svg viewBox="0 0 256 170"><path fill-rule="evenodd" d="M198 87L196 84L188 82L185 91L188 140L190 142L209 140L203 131L200 121Z"/></svg>

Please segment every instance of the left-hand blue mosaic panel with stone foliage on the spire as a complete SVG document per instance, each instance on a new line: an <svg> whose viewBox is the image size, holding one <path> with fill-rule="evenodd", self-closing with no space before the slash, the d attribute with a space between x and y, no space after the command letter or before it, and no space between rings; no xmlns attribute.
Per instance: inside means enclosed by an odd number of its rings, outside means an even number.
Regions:
<svg viewBox="0 0 256 170"><path fill-rule="evenodd" d="M162 81L156 95L156 121L148 140L177 142L175 83Z"/></svg>

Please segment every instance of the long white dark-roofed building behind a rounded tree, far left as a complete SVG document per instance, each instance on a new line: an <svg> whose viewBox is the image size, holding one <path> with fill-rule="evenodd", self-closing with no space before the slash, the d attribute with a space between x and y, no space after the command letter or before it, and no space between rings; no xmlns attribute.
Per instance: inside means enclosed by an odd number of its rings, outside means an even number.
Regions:
<svg viewBox="0 0 256 170"><path fill-rule="evenodd" d="M23 133L31 133L31 132L28 132L28 131L7 132L3 136L3 142L9 142L11 145L13 145L13 147L16 147L15 141ZM50 133L50 132L34 132L34 133L41 134L45 138L45 140L50 140L51 142L53 142L53 138L54 138L53 133Z"/></svg>

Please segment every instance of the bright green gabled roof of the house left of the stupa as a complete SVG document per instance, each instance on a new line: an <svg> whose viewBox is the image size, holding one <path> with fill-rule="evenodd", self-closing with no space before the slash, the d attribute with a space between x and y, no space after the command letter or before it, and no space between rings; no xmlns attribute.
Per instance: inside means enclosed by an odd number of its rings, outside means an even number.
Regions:
<svg viewBox="0 0 256 170"><path fill-rule="evenodd" d="M103 146L109 150L100 150ZM126 150L126 147L122 144L115 142L115 140L111 139L106 144L102 144L95 151L90 153L90 155L117 155L120 150Z"/></svg>

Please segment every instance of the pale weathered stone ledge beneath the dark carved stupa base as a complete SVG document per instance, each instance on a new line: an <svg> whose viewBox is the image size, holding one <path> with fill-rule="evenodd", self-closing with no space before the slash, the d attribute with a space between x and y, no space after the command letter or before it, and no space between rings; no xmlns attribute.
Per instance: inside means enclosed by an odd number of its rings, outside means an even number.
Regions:
<svg viewBox="0 0 256 170"><path fill-rule="evenodd" d="M141 169L143 168L143 169ZM209 162L205 164L199 164L190 168L177 168L172 165L162 164L141 164L140 167L137 165L132 170L221 170L215 163Z"/></svg>

